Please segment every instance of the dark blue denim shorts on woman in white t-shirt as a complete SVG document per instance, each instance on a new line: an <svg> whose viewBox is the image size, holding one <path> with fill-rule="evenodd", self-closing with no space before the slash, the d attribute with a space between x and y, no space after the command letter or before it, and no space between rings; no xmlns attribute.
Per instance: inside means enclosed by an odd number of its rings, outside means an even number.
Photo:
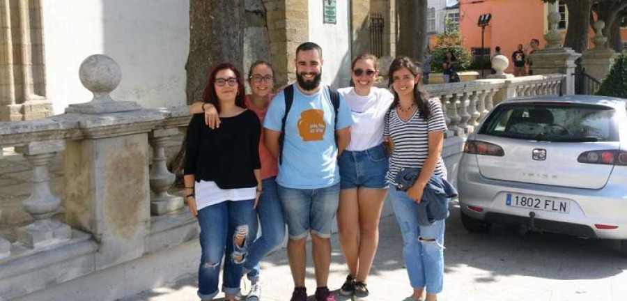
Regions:
<svg viewBox="0 0 627 301"><path fill-rule="evenodd" d="M339 158L340 188L387 188L388 160L382 145L366 151L344 151Z"/></svg>

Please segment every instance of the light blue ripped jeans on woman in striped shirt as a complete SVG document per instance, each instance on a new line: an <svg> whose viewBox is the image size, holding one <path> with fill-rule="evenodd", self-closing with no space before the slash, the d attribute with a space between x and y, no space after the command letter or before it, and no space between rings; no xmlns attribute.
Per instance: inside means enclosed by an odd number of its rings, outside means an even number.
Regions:
<svg viewBox="0 0 627 301"><path fill-rule="evenodd" d="M403 234L403 256L412 288L426 287L427 293L441 293L444 284L445 219L420 226L417 203L401 190L390 189L394 214Z"/></svg>

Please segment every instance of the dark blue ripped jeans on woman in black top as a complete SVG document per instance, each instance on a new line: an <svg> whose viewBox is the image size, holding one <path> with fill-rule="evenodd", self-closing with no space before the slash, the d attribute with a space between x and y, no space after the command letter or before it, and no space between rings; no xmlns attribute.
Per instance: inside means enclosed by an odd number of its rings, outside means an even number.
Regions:
<svg viewBox="0 0 627 301"><path fill-rule="evenodd" d="M202 249L198 270L198 296L201 300L212 300L219 293L220 265L225 252L222 291L231 295L240 292L247 242L239 247L233 243L233 238L238 232L245 231L247 235L253 204L254 200L224 201L198 211ZM242 255L244 258L235 263L234 255Z"/></svg>

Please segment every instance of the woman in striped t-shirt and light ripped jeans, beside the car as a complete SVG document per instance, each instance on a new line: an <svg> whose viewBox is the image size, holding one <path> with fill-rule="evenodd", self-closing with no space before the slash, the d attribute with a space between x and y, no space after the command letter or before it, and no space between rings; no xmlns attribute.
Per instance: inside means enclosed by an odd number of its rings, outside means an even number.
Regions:
<svg viewBox="0 0 627 301"><path fill-rule="evenodd" d="M403 256L414 291L405 300L419 300L426 290L426 300L437 299L444 275L444 219L448 199L438 199L443 208L428 212L428 220L418 214L425 206L433 180L447 177L442 160L444 131L447 130L442 107L430 100L421 84L422 72L409 58L399 57L389 67L389 85L394 88L394 102L385 118L384 135L392 150L387 180L394 184L390 196L403 234ZM400 183L399 173L417 171L414 183ZM405 187L403 187L405 185ZM425 202L426 203L426 202ZM446 208L444 210L444 208Z"/></svg>

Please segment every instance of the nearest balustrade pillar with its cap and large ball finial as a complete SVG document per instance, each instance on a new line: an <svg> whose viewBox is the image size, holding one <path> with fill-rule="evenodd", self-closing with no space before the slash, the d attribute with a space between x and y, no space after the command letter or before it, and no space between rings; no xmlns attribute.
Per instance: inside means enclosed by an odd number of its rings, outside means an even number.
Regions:
<svg viewBox="0 0 627 301"><path fill-rule="evenodd" d="M88 57L82 84L94 99L70 107L79 114L82 140L65 151L65 210L68 224L91 233L99 243L95 268L111 267L146 252L150 231L148 132L164 121L159 111L118 102L109 93L121 79L108 56ZM133 107L137 109L133 109ZM104 112L105 114L100 114Z"/></svg>

